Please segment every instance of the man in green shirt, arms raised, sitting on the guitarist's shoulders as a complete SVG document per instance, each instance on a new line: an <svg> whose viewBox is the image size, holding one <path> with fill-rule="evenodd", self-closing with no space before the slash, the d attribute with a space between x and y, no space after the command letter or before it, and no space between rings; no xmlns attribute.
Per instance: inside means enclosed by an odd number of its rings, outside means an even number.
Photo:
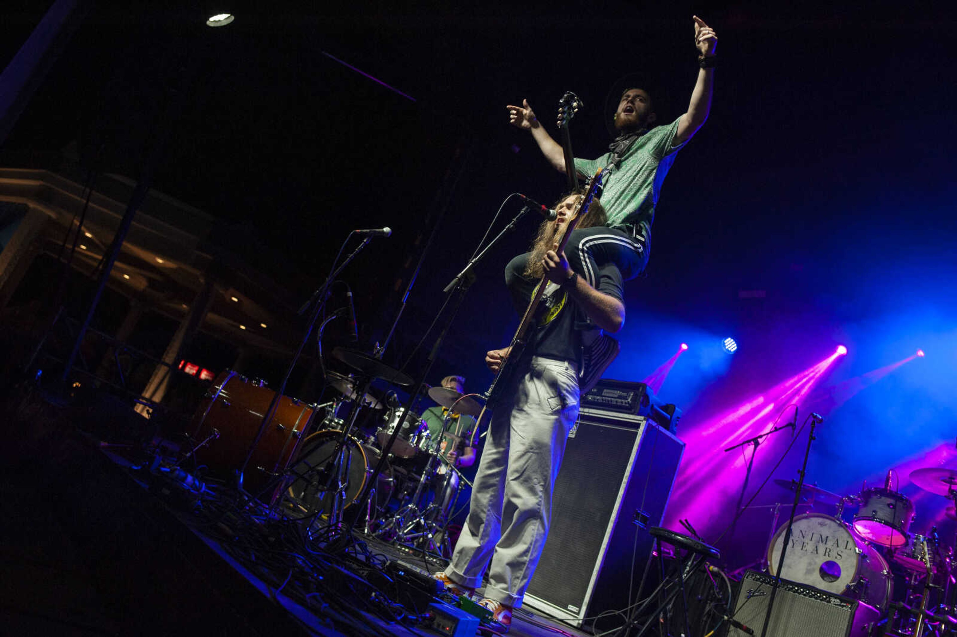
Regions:
<svg viewBox="0 0 957 637"><path fill-rule="evenodd" d="M609 152L595 160L575 158L576 171L585 176L599 168L609 173L602 195L608 210L608 226L578 230L568 239L569 251L588 256L587 275L595 263L612 261L629 280L641 274L648 264L652 222L665 175L678 151L698 132L711 110L718 36L697 15L693 20L700 68L687 111L669 124L656 126L660 109L649 87L644 80L626 76L616 82L620 91L612 87L610 98L617 100L617 107L609 118L615 135ZM512 125L531 132L545 159L566 172L561 144L548 135L528 100L523 100L521 106L510 104L505 108Z"/></svg>

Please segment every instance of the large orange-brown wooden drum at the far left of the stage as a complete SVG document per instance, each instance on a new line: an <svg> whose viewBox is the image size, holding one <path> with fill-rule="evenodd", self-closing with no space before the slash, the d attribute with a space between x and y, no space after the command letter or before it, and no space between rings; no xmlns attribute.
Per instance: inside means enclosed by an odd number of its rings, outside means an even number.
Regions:
<svg viewBox="0 0 957 637"><path fill-rule="evenodd" d="M198 445L196 462L206 465L212 475L230 479L242 468L274 396L272 389L234 371L217 376L192 419L190 435L193 444ZM246 467L243 484L247 491L268 501L270 494L258 492L285 471L314 412L312 405L279 397L276 412Z"/></svg>

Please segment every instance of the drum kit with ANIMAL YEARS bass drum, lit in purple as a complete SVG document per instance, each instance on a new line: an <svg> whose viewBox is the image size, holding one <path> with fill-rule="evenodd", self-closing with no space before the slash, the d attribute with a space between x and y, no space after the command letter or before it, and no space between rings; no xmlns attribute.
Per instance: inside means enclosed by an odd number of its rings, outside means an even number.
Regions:
<svg viewBox="0 0 957 637"><path fill-rule="evenodd" d="M781 577L857 599L882 614L908 609L911 616L891 617L902 633L919 635L931 607L938 621L957 626L953 619L957 604L954 544L938 538L936 527L926 536L910 533L914 504L891 488L893 477L894 472L888 472L883 487L843 496L804 485L801 506L834 507L834 515L814 512L794 517ZM910 480L957 503L957 470L918 469L910 473ZM792 480L774 482L791 492L797 486ZM778 527L778 512L784 505L772 506L774 521L761 564L777 575L788 521ZM954 507L947 509L946 516L957 519Z"/></svg>

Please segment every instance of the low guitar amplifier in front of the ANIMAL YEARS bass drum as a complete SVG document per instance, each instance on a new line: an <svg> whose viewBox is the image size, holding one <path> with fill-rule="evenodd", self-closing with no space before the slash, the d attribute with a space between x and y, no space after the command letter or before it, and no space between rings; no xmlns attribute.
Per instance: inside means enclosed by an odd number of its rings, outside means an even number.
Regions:
<svg viewBox="0 0 957 637"><path fill-rule="evenodd" d="M746 571L734 604L734 619L760 635L768 614L774 578ZM876 608L813 586L781 580L768 623L767 637L867 637L879 620ZM728 629L728 637L747 637Z"/></svg>

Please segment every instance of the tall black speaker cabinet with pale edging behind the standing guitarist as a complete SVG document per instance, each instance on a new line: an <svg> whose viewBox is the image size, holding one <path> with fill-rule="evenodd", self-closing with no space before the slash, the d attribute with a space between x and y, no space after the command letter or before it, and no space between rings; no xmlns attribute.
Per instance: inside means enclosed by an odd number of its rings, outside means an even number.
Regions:
<svg viewBox="0 0 957 637"><path fill-rule="evenodd" d="M577 626L627 606L632 564L637 587L654 539L647 527L661 523L683 451L675 435L642 416L582 409L524 604Z"/></svg>

